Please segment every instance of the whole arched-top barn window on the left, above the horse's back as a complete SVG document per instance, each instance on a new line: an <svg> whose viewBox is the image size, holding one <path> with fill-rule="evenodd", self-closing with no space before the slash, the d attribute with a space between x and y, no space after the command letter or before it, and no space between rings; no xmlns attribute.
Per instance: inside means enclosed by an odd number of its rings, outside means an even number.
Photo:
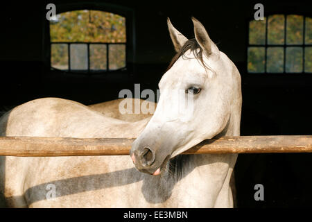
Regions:
<svg viewBox="0 0 312 222"><path fill-rule="evenodd" d="M51 67L98 72L126 67L125 17L100 10L62 12L50 21Z"/></svg>

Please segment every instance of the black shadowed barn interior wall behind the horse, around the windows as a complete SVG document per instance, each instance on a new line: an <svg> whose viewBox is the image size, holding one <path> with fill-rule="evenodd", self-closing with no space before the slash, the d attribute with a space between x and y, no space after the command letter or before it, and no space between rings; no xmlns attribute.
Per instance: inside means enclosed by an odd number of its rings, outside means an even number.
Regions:
<svg viewBox="0 0 312 222"><path fill-rule="evenodd" d="M53 1L58 3L84 1ZM204 24L214 42L236 64L242 76L242 135L311 135L312 74L248 74L248 21L258 2L97 1L133 10L135 58L128 73L84 76L52 72L46 65L46 4L10 3L1 12L0 106L11 107L44 96L85 103L118 98L121 89L157 89L174 56L166 17L185 36L193 37L191 16ZM311 3L261 1L265 15L311 15ZM311 206L312 155L239 155L236 187L239 207ZM254 200L254 185L265 188L265 200Z"/></svg>

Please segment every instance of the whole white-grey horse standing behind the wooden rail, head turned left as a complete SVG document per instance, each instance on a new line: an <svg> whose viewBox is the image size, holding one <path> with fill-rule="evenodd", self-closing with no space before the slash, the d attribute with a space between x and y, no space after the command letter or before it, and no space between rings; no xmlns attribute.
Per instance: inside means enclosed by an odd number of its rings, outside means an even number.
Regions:
<svg viewBox="0 0 312 222"><path fill-rule="evenodd" d="M178 53L159 82L151 119L122 121L55 98L24 103L0 119L2 136L137 137L130 153L145 173L128 156L0 157L8 207L233 206L229 179L237 155L179 155L204 139L239 135L241 119L239 71L192 20L193 40L168 20ZM191 114L174 112L173 91L193 96Z"/></svg>

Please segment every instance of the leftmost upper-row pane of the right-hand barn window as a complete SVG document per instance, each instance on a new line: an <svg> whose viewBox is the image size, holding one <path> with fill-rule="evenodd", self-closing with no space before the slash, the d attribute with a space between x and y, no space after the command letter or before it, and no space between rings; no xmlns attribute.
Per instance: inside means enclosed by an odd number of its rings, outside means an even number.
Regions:
<svg viewBox="0 0 312 222"><path fill-rule="evenodd" d="M266 43L266 17L264 20L253 20L249 23L249 44Z"/></svg>

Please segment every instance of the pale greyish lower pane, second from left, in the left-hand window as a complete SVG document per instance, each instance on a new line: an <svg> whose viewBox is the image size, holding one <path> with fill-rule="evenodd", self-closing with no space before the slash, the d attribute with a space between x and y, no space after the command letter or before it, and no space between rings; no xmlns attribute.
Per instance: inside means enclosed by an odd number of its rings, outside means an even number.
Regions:
<svg viewBox="0 0 312 222"><path fill-rule="evenodd" d="M87 70L88 69L88 54L87 44L71 44L71 69L72 70Z"/></svg>

